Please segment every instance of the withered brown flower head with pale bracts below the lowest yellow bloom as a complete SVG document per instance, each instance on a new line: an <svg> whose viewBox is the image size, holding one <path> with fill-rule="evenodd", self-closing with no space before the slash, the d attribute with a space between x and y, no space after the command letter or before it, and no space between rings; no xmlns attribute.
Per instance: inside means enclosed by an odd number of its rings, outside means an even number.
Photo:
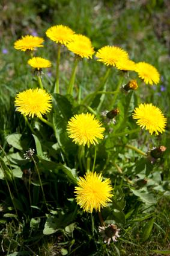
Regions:
<svg viewBox="0 0 170 256"><path fill-rule="evenodd" d="M118 234L119 231L120 229L114 224L109 224L107 227L99 226L99 232L104 238L104 242L108 243L108 245L111 243L111 238L114 242L117 242L117 237L120 237Z"/></svg>

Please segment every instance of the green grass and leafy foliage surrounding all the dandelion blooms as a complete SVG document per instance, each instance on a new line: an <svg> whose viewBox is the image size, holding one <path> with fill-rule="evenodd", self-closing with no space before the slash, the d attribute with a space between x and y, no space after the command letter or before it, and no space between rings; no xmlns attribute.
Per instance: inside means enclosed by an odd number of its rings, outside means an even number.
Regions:
<svg viewBox="0 0 170 256"><path fill-rule="evenodd" d="M138 103L152 102L169 120L169 31L168 1L4 1L0 4L0 182L1 255L169 255L169 122L166 131L150 136L140 130L131 118ZM31 10L31 14L30 14ZM12 15L11 15L12 14ZM68 119L86 112L79 102L95 91L106 74L106 66L95 59L79 63L74 97L65 97L70 79L73 54L61 49L61 95L54 95L55 131L38 118L29 119L34 136L22 115L14 107L17 92L36 88L37 79L27 65L29 56L14 50L20 36L37 32L44 37L54 24L68 25L77 33L90 37L97 51L104 45L119 45L136 62L154 65L161 74L158 86L146 86L135 74L139 89L118 94L121 114L115 126L106 125L106 139L97 147L95 170L110 178L114 187L113 202L103 208L105 223L116 223L121 229L117 243L106 245L100 237L97 213L91 216L80 210L74 200L74 184L80 170L78 147L65 135ZM51 60L55 67L57 48L45 39L38 55ZM7 49L7 54L3 50ZM55 68L44 72L43 83L52 92ZM112 69L107 91L115 91L120 72ZM124 83L129 77L124 78ZM81 88L81 91L79 91ZM79 92L79 96L77 93ZM101 119L100 111L111 110L113 95L106 94L100 110L91 107ZM129 107L129 108L128 108ZM89 110L89 109L88 109ZM47 115L52 121L52 115ZM111 132L112 129L112 132ZM136 130L129 133L124 130ZM131 145L131 146L129 146ZM165 154L155 164L142 152L164 145ZM34 148L34 161L23 153ZM93 166L94 147L85 149ZM36 165L37 167L36 167ZM44 189L41 192L41 182ZM5 174L5 177L4 177ZM141 184L144 178L147 184ZM11 193L11 194L10 194Z"/></svg>

